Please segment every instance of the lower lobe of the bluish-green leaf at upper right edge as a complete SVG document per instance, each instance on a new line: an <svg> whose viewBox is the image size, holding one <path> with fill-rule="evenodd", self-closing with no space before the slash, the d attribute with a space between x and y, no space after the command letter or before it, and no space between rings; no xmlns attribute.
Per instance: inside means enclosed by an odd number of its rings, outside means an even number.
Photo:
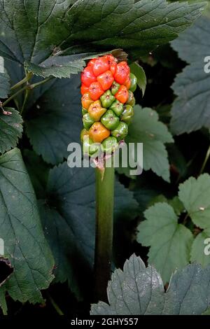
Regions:
<svg viewBox="0 0 210 329"><path fill-rule="evenodd" d="M204 72L201 60L190 64L176 76L172 88L178 97L172 106L172 132L183 134L210 127L209 85L210 74Z"/></svg>

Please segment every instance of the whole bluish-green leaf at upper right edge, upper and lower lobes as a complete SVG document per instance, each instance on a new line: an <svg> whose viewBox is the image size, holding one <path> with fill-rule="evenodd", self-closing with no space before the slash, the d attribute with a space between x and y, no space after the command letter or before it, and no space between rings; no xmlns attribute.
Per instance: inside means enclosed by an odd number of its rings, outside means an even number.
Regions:
<svg viewBox="0 0 210 329"><path fill-rule="evenodd" d="M178 96L172 107L172 130L175 134L210 127L210 75L204 59L210 53L210 20L201 18L172 43L181 59L190 63L176 76L172 85Z"/></svg>

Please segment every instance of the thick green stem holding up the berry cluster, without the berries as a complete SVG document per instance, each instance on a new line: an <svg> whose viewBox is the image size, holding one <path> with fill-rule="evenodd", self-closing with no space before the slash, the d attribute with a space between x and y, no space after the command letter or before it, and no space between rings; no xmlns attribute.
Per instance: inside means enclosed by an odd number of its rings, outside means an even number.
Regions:
<svg viewBox="0 0 210 329"><path fill-rule="evenodd" d="M113 198L114 168L106 168L104 175L96 169L97 226L95 245L95 286L96 300L106 301L107 283L111 276L113 245Z"/></svg>

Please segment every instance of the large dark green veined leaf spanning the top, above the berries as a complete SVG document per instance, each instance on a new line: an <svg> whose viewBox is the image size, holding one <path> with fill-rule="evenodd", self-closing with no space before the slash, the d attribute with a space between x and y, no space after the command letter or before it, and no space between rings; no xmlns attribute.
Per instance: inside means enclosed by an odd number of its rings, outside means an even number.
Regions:
<svg viewBox="0 0 210 329"><path fill-rule="evenodd" d="M128 50L134 57L144 55L176 38L203 8L204 3L168 4L165 0L78 0L73 6L71 0L17 0L15 6L1 0L0 55L39 65L35 71L44 76L66 76L57 67L58 55L113 47ZM52 57L54 65L44 70L43 62ZM76 67L68 67L68 74L75 73Z"/></svg>

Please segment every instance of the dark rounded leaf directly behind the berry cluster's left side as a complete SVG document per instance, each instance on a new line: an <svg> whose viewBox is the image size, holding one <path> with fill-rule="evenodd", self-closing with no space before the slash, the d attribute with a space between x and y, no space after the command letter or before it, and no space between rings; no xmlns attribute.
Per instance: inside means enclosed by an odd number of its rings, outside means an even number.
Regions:
<svg viewBox="0 0 210 329"><path fill-rule="evenodd" d="M67 158L67 146L80 141L82 129L79 77L55 80L45 90L26 120L27 135L45 162Z"/></svg>

